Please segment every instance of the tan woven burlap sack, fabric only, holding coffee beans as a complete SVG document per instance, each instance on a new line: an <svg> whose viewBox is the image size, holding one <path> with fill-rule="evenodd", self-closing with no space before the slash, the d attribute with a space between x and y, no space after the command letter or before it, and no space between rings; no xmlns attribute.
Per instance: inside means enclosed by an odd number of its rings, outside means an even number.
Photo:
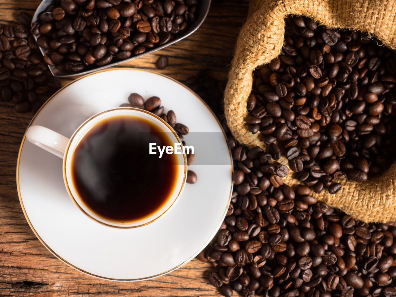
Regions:
<svg viewBox="0 0 396 297"><path fill-rule="evenodd" d="M234 137L243 145L266 148L260 133L246 124L252 72L269 63L282 50L284 18L288 14L312 17L322 25L370 32L396 49L396 2L379 0L251 0L249 15L240 31L225 90L225 116ZM287 165L282 157L280 163ZM292 171L291 171L292 172ZM365 183L346 179L334 195L315 194L319 200L365 222L396 221L396 162L381 177ZM284 183L298 183L289 173Z"/></svg>

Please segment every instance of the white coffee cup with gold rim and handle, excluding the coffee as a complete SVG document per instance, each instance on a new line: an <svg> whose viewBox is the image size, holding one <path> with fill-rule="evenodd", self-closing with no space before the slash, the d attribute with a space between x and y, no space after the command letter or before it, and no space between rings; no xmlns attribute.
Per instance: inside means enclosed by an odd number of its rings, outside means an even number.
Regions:
<svg viewBox="0 0 396 297"><path fill-rule="evenodd" d="M82 201L82 198L78 195L76 188L74 187L74 183L72 181L72 156L77 145L84 139L86 133L99 122L106 120L108 118L113 118L117 116L133 116L137 118L142 118L144 120L148 120L150 123L154 124L157 128L162 132L168 132L166 135L170 138L171 143L179 143L181 145L181 141L177 136L176 132L173 130L168 123L162 120L160 117L142 109L135 109L131 107L122 107L117 109L111 109L104 112L100 112L95 114L84 123L80 125L74 131L72 137L68 139L67 137L51 130L45 128L43 126L30 126L26 131L26 139L31 143L37 145L52 154L63 158L63 181L65 183L65 187L67 192L69 193L70 198L73 202L80 208L86 215L94 219L95 221L105 224L110 227L118 227L118 228L132 228L139 227L143 225L147 225L156 219L160 218L164 215L172 206L175 205L177 199L181 196L183 191L186 177L187 177L187 159L186 155L176 154L177 158L177 174L175 187L171 194L169 195L168 201L166 201L162 207L157 209L154 213L150 214L148 217L144 217L143 219L137 219L135 221L113 221L107 219L105 217L101 217L90 208L86 206L86 204ZM155 185L153 185L155 186Z"/></svg>

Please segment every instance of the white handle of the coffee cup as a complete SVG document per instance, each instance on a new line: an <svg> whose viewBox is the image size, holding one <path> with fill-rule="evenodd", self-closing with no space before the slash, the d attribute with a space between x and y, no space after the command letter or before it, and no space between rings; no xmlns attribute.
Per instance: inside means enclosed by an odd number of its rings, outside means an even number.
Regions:
<svg viewBox="0 0 396 297"><path fill-rule="evenodd" d="M43 126L30 126L26 131L26 139L40 148L63 159L69 138Z"/></svg>

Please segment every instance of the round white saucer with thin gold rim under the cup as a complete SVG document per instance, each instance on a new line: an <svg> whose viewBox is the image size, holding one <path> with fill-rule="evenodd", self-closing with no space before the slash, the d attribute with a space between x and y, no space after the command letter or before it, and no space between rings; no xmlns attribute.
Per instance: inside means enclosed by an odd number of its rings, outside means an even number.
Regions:
<svg viewBox="0 0 396 297"><path fill-rule="evenodd" d="M109 280L143 280L166 274L194 258L215 236L232 193L232 159L223 130L209 107L194 92L167 76L147 70L119 68L74 80L55 93L30 125L42 125L66 137L87 118L127 103L130 93L158 96L175 111L190 132L217 132L213 143L199 147L194 170L198 181L186 184L177 204L162 218L139 228L118 229L82 213L67 194L62 160L23 138L17 164L17 188L25 217L38 239L71 267ZM194 142L195 141L195 142ZM207 150L207 151L202 151ZM203 164L217 153L224 165ZM228 161L229 160L229 161Z"/></svg>

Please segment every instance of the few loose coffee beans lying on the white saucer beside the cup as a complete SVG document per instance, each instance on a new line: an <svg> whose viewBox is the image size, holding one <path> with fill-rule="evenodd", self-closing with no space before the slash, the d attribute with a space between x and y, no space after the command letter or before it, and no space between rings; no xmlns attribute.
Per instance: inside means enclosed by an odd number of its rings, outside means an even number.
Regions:
<svg viewBox="0 0 396 297"><path fill-rule="evenodd" d="M135 107L139 109L145 109L155 114L156 116L159 116L175 130L177 136L179 136L180 140L182 141L182 144L184 146L186 145L183 137L184 135L188 134L188 127L181 123L177 123L176 114L173 110L169 110L167 113L164 113L165 108L161 106L161 99L159 97L152 96L145 100L138 93L131 93L128 97L128 102L129 103L121 104L120 107ZM194 158L195 153L189 151L189 153L187 154L187 166L192 164ZM188 170L186 181L190 184L195 183L197 181L196 173L192 170Z"/></svg>

